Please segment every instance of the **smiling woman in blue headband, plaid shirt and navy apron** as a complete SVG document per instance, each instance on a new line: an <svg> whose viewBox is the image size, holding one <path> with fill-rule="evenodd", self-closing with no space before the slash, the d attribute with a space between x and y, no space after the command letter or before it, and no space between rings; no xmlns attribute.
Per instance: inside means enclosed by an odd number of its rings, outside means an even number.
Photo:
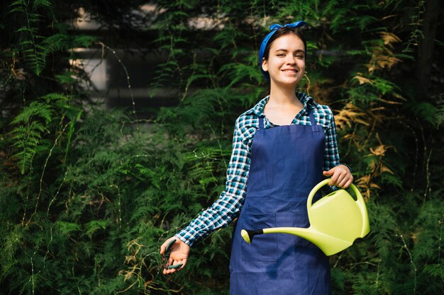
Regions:
<svg viewBox="0 0 444 295"><path fill-rule="evenodd" d="M331 294L328 258L315 245L284 234L257 236L248 245L241 229L309 227L306 198L323 176L348 187L350 168L339 163L333 113L295 91L305 70L302 21L272 25L260 48L270 96L236 120L226 189L172 239L170 265L182 270L190 246L238 216L230 262L230 294ZM248 180L248 183L247 183ZM240 211L240 209L242 209ZM238 215L238 213L240 214Z"/></svg>

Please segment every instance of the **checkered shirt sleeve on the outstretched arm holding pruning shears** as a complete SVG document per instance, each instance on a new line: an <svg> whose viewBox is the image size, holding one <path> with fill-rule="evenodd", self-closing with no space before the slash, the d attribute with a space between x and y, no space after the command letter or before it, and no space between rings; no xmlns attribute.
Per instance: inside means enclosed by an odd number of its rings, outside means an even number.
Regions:
<svg viewBox="0 0 444 295"><path fill-rule="evenodd" d="M233 134L233 152L226 175L226 187L211 207L202 211L191 223L175 236L187 245L208 236L212 231L222 229L238 216L247 188L250 169L250 147L245 140L245 129L236 120Z"/></svg>

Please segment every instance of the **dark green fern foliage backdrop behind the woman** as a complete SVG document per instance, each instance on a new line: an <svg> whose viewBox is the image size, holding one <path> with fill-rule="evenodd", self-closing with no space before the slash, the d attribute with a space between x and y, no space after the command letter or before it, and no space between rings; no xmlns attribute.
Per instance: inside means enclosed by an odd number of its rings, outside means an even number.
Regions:
<svg viewBox="0 0 444 295"><path fill-rule="evenodd" d="M329 105L370 234L333 294L441 294L443 4L0 4L0 294L228 294L233 225L160 274L159 247L223 190L258 47L304 20L298 90Z"/></svg>

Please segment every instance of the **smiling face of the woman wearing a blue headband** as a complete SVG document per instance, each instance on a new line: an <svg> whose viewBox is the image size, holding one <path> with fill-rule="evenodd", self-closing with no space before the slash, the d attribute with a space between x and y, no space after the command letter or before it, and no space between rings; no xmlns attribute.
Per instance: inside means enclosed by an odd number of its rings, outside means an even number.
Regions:
<svg viewBox="0 0 444 295"><path fill-rule="evenodd" d="M296 85L305 71L304 42L294 34L274 40L268 59L262 59L262 69L268 71L274 84Z"/></svg>

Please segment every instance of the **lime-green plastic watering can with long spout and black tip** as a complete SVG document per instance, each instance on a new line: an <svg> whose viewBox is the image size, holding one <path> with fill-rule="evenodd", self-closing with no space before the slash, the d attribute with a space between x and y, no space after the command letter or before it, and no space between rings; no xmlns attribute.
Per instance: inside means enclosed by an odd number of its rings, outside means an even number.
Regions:
<svg viewBox="0 0 444 295"><path fill-rule="evenodd" d="M330 179L318 183L311 190L307 199L310 227L275 227L269 229L240 231L247 243L252 242L255 235L262 233L290 233L305 238L330 256L353 245L357 238L363 238L370 231L367 207L355 185L350 185L357 200L346 190L336 190L312 204L316 192L328 184Z"/></svg>

